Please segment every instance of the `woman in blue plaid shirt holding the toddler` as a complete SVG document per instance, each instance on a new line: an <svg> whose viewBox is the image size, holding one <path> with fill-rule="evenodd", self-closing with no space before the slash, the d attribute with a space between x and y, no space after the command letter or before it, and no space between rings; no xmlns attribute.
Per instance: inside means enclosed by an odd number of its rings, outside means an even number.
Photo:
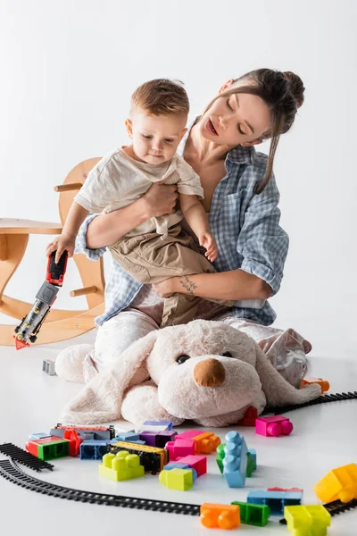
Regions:
<svg viewBox="0 0 357 536"><path fill-rule="evenodd" d="M278 292L288 249L279 227L279 193L272 173L279 136L303 104L303 82L292 72L252 71L228 80L187 130L179 147L200 175L212 233L220 247L216 273L175 277L156 285L140 283L112 264L105 289L105 312L95 348L75 345L57 357L56 371L69 381L88 381L149 331L157 330L162 297L174 292L235 300L232 309L202 301L200 318L228 322L248 333L286 380L299 387L311 349L294 330L270 328L276 314L268 298ZM271 139L270 155L253 148ZM98 259L145 219L175 211L174 186L154 185L133 205L111 214L90 215L79 232L78 253Z"/></svg>

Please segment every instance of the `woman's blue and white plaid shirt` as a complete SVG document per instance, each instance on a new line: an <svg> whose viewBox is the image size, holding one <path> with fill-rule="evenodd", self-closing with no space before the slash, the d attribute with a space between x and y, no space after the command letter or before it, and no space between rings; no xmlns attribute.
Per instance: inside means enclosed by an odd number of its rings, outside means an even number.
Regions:
<svg viewBox="0 0 357 536"><path fill-rule="evenodd" d="M183 155L187 135L179 146L179 155ZM270 285L274 295L283 278L289 239L279 226L279 192L274 175L262 194L253 193L256 182L264 176L267 158L253 147L238 146L228 152L227 174L214 190L209 222L219 246L213 263L217 272L240 269L253 273ZM94 261L106 251L106 247L87 248L87 226L95 216L88 214L76 243L76 253L84 253ZM105 311L95 319L96 325L128 307L141 287L112 259L106 278ZM270 325L276 318L268 300L237 301L233 314L263 325Z"/></svg>

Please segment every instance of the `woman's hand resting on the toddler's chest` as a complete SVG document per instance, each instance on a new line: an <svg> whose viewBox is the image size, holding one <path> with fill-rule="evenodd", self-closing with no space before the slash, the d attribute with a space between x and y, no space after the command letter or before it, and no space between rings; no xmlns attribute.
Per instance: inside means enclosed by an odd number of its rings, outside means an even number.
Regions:
<svg viewBox="0 0 357 536"><path fill-rule="evenodd" d="M178 202L178 189L176 184L164 184L164 180L154 182L142 197L144 210L148 218L158 218L166 214L175 214Z"/></svg>

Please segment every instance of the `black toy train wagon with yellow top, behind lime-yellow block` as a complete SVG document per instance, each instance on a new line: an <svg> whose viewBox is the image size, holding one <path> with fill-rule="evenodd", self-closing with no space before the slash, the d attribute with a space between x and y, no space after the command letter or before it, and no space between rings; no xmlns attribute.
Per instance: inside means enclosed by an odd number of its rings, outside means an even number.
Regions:
<svg viewBox="0 0 357 536"><path fill-rule="evenodd" d="M120 450L127 450L130 454L137 454L141 465L144 465L145 473L156 474L162 471L163 465L169 462L168 451L165 448L149 447L148 445L136 445L129 441L108 443L108 451L117 454ZM170 460L172 461L172 460Z"/></svg>

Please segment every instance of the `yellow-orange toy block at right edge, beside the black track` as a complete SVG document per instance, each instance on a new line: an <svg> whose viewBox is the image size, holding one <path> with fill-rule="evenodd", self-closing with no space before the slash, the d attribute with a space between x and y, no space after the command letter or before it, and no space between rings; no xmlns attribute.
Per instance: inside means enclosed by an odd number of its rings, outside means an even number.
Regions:
<svg viewBox="0 0 357 536"><path fill-rule="evenodd" d="M333 469L314 486L313 490L323 502L331 502L338 498L346 503L357 498L357 465L349 464Z"/></svg>

